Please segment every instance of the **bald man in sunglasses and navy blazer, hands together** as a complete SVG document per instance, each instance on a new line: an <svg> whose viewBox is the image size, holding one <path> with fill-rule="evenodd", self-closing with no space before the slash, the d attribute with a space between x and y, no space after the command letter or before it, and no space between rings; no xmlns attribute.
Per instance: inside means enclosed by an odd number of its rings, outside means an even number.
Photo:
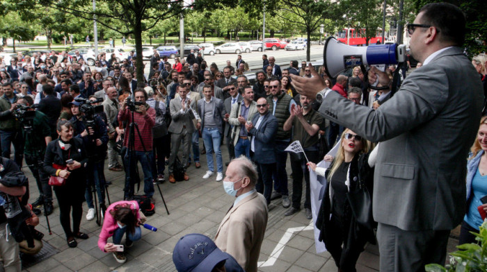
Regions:
<svg viewBox="0 0 487 272"><path fill-rule="evenodd" d="M246 124L248 134L251 135L250 151L252 160L257 164L259 180L255 189L264 192L267 205L271 203L272 171L276 168L276 153L274 152L274 137L278 133L278 119L269 112L269 104L264 97L257 100L257 111L252 123ZM255 126L254 126L255 124Z"/></svg>

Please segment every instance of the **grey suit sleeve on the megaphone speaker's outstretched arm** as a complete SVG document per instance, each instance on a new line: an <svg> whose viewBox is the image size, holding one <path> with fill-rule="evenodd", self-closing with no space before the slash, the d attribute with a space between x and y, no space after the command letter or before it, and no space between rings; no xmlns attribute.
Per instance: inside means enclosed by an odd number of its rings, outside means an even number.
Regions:
<svg viewBox="0 0 487 272"><path fill-rule="evenodd" d="M449 83L441 76L441 67L429 65L427 73L408 76L399 92L377 110L329 92L319 112L335 123L362 135L372 142L383 142L433 119L445 106ZM424 87L429 86L428 91Z"/></svg>

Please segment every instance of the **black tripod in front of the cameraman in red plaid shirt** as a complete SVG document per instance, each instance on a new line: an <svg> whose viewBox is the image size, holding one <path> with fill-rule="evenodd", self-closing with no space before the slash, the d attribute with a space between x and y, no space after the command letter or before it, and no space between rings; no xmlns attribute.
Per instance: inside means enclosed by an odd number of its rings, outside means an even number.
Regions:
<svg viewBox="0 0 487 272"><path fill-rule="evenodd" d="M147 159L147 161L149 161L149 160L148 160L148 155L147 155L147 149L145 148L145 144L144 144L143 139L142 139L141 131L138 129L138 125L134 122L135 106L134 105L129 106L129 110L131 113L131 122L129 124L129 135L128 135L129 136L129 144L128 144L128 148L127 148L127 153L128 153L127 155L129 157L129 165L127 166L129 168L129 175L128 175L129 185L128 185L128 188L126 186L125 189L129 190L129 192L128 192L129 196L134 196L134 185L135 185L134 180L138 180L137 192L141 187L140 178L138 175L138 167L137 167L136 158L135 158L135 153L136 153L136 150L135 150L135 133L136 132L138 135L138 139L141 141L145 158ZM151 167L150 161L147 164L147 167L149 167L148 171L150 171L150 173L152 173L152 169L150 169L150 167ZM164 203L164 207L166 207L166 212L169 214L168 206L166 205L166 201L164 201L164 197L162 195L161 187L159 187L159 182L154 182L154 183L155 183L155 185L157 185L157 189L159 189L159 194L161 194L162 202Z"/></svg>

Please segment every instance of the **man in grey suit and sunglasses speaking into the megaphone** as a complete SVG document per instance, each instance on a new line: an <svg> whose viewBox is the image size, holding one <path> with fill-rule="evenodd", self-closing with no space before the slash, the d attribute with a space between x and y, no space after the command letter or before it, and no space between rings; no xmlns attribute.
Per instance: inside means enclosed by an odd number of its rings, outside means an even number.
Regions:
<svg viewBox="0 0 487 272"><path fill-rule="evenodd" d="M468 150L477 133L483 92L477 71L463 55L465 17L449 3L421 8L408 25L410 53L423 66L399 92L372 110L328 92L319 112L378 146L374 219L381 271L424 271L444 264L449 232L465 215ZM292 76L301 94L326 85ZM391 81L375 67L369 82Z"/></svg>

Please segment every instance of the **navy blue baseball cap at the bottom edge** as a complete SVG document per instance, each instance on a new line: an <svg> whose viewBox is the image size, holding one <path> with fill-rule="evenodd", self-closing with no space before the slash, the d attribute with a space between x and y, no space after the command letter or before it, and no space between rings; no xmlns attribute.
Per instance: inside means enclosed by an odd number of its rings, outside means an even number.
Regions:
<svg viewBox="0 0 487 272"><path fill-rule="evenodd" d="M227 260L209 237L192 233L177 241L173 250L173 262L178 272L210 272L216 264Z"/></svg>

